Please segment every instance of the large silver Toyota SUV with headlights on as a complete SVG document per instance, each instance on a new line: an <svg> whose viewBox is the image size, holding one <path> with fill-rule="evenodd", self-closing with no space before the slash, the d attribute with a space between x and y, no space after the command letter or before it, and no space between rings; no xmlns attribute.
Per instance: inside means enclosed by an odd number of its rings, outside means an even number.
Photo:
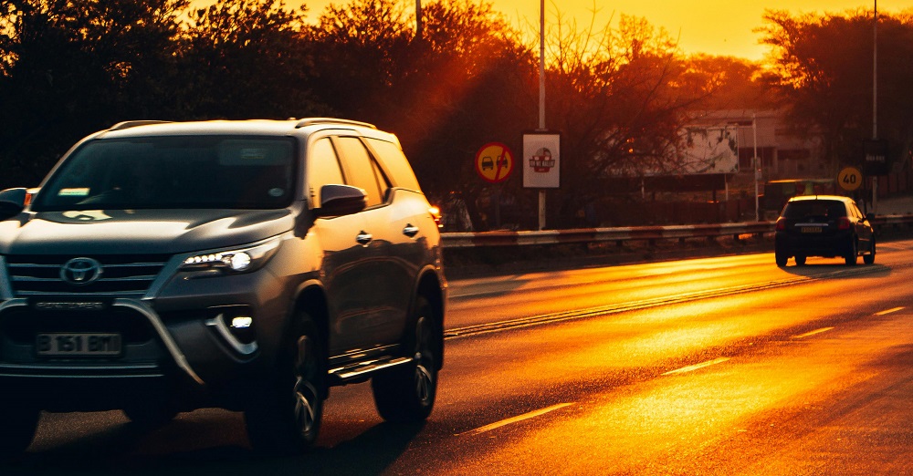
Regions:
<svg viewBox="0 0 913 476"><path fill-rule="evenodd" d="M444 357L436 215L399 141L341 119L131 121L31 200L0 192L0 453L46 411L243 411L316 440L331 386L425 419Z"/></svg>

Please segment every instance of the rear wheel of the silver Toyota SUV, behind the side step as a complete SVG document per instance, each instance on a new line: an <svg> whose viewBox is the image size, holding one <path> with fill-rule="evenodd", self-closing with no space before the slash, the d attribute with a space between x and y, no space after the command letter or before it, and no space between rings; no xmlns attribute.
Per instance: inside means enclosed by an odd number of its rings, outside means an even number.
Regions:
<svg viewBox="0 0 913 476"><path fill-rule="evenodd" d="M377 412L394 423L422 421L431 414L437 394L437 370L443 357L441 329L425 298L418 298L410 322L415 329L406 336L404 345L415 362L394 367L371 380Z"/></svg>

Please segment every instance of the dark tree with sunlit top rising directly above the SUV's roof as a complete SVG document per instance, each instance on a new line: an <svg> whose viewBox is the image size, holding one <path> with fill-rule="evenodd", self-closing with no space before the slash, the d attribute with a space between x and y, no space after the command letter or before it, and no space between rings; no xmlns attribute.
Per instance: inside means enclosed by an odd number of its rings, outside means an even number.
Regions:
<svg viewBox="0 0 913 476"><path fill-rule="evenodd" d="M190 12L172 81L174 115L285 119L328 110L309 89L305 11L281 0L220 0Z"/></svg>

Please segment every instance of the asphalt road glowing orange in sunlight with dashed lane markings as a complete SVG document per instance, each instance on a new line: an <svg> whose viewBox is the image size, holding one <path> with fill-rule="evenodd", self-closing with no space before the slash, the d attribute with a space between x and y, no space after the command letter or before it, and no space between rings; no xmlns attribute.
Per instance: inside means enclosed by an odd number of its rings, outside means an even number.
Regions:
<svg viewBox="0 0 913 476"><path fill-rule="evenodd" d="M911 257L903 241L870 266L750 254L453 282L424 425L383 423L363 384L332 390L298 458L257 457L222 410L152 431L46 414L0 474L913 472Z"/></svg>

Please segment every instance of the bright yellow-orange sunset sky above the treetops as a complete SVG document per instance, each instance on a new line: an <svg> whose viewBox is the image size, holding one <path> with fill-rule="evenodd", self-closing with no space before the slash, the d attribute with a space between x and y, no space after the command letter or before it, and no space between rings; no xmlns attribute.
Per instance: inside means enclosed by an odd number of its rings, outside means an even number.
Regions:
<svg viewBox="0 0 913 476"><path fill-rule="evenodd" d="M410 7L415 5L414 0L403 1ZM286 0L286 5L302 2L310 9L310 19L319 16L325 5L349 3L348 0ZM491 3L514 25L539 24L539 0L491 0ZM545 19L554 20L556 10L560 10L565 16L575 17L578 24L588 24L593 18L593 5L598 10L596 24L600 26L613 13L615 18L620 14L640 16L653 26L666 28L669 36L679 38L685 53L761 59L766 48L758 45L759 36L752 30L762 25L765 8L793 14L843 13L860 7L870 10L874 0L546 0ZM910 0L878 1L879 12L897 13L911 7ZM525 20L521 23L521 19Z"/></svg>

